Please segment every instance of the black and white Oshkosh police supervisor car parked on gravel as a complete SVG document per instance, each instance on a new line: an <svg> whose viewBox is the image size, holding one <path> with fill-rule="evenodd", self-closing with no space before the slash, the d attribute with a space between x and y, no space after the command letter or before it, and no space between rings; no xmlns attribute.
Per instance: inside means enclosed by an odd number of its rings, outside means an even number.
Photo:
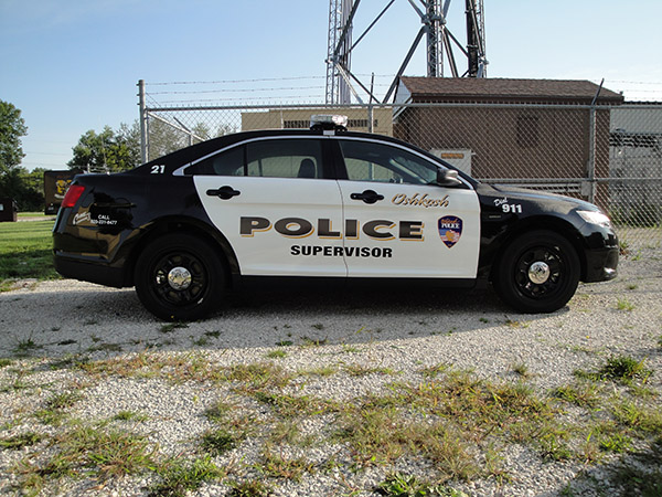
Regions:
<svg viewBox="0 0 662 497"><path fill-rule="evenodd" d="M618 240L596 205L484 184L345 124L317 116L77 176L53 229L57 272L135 286L156 316L182 320L231 290L303 283L491 282L514 309L549 313L579 281L616 276Z"/></svg>

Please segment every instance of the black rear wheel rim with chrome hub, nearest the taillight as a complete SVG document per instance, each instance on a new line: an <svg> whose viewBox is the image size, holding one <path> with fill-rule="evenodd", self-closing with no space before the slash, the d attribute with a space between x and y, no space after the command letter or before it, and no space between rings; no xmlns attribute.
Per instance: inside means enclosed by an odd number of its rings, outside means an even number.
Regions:
<svg viewBox="0 0 662 497"><path fill-rule="evenodd" d="M184 284L173 286L172 275L177 273L188 274L189 277ZM151 274L156 296L172 306L197 304L209 286L204 264L199 257L186 252L163 255L154 264Z"/></svg>

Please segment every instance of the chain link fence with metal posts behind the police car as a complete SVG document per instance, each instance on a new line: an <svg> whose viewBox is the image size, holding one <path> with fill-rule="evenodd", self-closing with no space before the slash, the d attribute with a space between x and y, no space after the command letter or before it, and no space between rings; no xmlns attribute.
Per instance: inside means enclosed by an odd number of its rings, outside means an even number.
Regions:
<svg viewBox="0 0 662 497"><path fill-rule="evenodd" d="M488 183L588 200L623 248L662 243L662 104L142 106L145 158L236 131L307 128L343 114L351 130L394 136Z"/></svg>

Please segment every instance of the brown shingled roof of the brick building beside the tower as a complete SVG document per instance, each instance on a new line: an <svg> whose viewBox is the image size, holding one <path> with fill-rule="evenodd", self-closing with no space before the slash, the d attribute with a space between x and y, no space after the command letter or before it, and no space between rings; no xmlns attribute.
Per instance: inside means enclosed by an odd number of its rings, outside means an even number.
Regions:
<svg viewBox="0 0 662 497"><path fill-rule="evenodd" d="M477 77L401 77L395 101L590 104L599 85L576 80ZM623 96L605 87L600 104L620 104Z"/></svg>

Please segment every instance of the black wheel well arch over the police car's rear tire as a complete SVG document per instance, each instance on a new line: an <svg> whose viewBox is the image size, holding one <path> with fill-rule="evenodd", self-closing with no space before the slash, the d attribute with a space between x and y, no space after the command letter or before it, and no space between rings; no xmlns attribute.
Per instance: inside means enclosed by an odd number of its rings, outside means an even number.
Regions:
<svg viewBox="0 0 662 497"><path fill-rule="evenodd" d="M159 236L172 233L186 233L192 236L196 236L204 242L209 243L212 247L217 248L222 255L221 263L227 276L225 281L227 285L232 285L232 275L238 274L238 262L237 257L229 245L229 242L225 236L218 232L212 232L207 226L201 225L200 222L190 219L163 219L152 223L148 231L145 232L136 245L131 248L130 254L127 258L127 286L134 285L134 274L136 272L136 261L140 253L147 245L152 243Z"/></svg>

